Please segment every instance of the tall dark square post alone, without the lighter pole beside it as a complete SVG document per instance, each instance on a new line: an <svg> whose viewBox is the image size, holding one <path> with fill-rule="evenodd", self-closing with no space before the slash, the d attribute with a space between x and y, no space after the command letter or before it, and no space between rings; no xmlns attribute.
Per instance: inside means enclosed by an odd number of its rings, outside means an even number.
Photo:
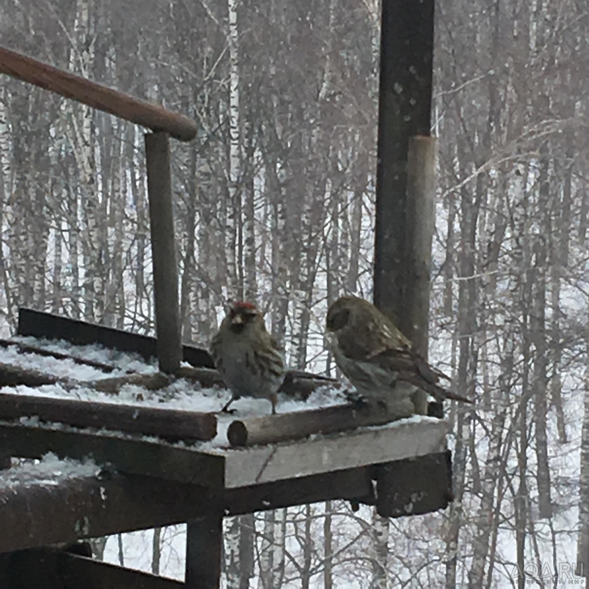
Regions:
<svg viewBox="0 0 589 589"><path fill-rule="evenodd" d="M431 128L434 0L382 0L374 301L408 337L409 138Z"/></svg>

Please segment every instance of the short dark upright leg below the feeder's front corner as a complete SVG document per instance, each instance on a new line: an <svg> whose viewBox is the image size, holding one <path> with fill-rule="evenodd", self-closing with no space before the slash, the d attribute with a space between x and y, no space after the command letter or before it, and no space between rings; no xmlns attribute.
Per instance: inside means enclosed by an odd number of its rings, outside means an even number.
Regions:
<svg viewBox="0 0 589 589"><path fill-rule="evenodd" d="M186 589L221 587L223 516L210 514L193 519L186 527Z"/></svg>

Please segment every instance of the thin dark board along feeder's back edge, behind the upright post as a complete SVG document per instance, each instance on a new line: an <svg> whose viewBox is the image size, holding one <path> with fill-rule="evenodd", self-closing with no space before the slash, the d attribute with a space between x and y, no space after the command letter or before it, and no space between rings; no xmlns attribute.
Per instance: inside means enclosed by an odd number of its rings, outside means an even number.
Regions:
<svg viewBox="0 0 589 589"><path fill-rule="evenodd" d="M18 310L16 333L22 336L63 339L78 346L98 344L121 352L137 353L145 360L157 358L155 337L26 307L20 307ZM215 367L209 352L196 346L184 345L183 359L193 366L212 369Z"/></svg>

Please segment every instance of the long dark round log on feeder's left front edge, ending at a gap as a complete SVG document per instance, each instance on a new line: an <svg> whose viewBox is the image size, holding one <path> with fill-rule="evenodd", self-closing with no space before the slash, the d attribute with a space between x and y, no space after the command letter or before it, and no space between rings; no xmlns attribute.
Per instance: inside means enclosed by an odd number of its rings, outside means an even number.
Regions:
<svg viewBox="0 0 589 589"><path fill-rule="evenodd" d="M31 416L42 422L133 432L174 441L206 441L217 435L214 413L0 393L0 419Z"/></svg>

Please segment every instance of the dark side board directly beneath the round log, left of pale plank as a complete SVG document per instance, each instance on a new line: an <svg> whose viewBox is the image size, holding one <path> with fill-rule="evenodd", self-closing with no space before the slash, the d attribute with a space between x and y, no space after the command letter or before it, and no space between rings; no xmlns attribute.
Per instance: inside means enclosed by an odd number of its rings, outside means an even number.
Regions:
<svg viewBox="0 0 589 589"><path fill-rule="evenodd" d="M163 442L4 422L0 423L0 447L5 454L16 458L41 458L47 452L60 458L91 457L98 465L118 472L213 488L223 486L223 456Z"/></svg>

